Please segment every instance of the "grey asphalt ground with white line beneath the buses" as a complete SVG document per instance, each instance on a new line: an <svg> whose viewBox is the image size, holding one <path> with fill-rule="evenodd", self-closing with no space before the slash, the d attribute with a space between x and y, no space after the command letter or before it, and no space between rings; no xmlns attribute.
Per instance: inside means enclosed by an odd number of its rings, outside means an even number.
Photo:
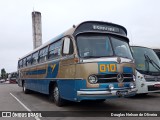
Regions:
<svg viewBox="0 0 160 120"><path fill-rule="evenodd" d="M50 102L47 95L33 92L31 94L24 94L22 88L17 84L2 84L0 83L0 111L55 111L52 114L60 114L62 117L30 117L30 118L0 118L0 120L159 120L159 117L95 117L96 114L91 113L90 117L81 117L85 114L90 114L88 111L118 111L132 112L132 111L160 111L160 93L152 93L147 96L136 96L133 98L118 98L109 99L104 103L95 102L69 102L64 107L57 107L54 103ZM57 112L61 111L61 112ZM79 117L64 117L64 111L76 111ZM71 112L70 112L71 113ZM92 116L93 115L93 116Z"/></svg>

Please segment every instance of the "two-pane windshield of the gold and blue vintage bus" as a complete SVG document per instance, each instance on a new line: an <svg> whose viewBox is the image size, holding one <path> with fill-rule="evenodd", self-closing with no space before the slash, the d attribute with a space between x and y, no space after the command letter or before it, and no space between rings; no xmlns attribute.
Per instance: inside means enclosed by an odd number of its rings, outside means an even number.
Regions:
<svg viewBox="0 0 160 120"><path fill-rule="evenodd" d="M99 58L119 56L132 59L125 38L108 34L82 34L77 37L77 46L81 58Z"/></svg>

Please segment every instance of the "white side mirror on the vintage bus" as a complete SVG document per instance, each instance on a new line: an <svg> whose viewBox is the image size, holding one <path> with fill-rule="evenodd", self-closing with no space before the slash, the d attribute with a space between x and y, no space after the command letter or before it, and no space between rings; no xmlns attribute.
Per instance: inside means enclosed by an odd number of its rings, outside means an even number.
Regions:
<svg viewBox="0 0 160 120"><path fill-rule="evenodd" d="M66 37L63 42L63 54L64 55L67 55L70 53L70 45L71 45L71 40Z"/></svg>

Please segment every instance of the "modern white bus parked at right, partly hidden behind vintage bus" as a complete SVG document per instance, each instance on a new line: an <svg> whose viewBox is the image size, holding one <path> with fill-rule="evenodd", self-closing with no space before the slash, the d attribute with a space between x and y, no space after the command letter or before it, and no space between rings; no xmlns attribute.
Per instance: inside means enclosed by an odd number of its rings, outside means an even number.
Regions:
<svg viewBox="0 0 160 120"><path fill-rule="evenodd" d="M153 49L131 46L136 63L137 94L160 92L160 61Z"/></svg>

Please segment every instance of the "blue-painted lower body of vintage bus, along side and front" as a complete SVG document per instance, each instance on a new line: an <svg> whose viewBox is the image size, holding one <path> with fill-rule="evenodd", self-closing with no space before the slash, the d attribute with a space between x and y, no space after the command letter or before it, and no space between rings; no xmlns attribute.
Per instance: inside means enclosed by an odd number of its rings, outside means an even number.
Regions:
<svg viewBox="0 0 160 120"><path fill-rule="evenodd" d="M49 94L49 83L51 80L26 80L27 83L27 89L38 91L44 94ZM100 84L98 88L87 88L86 86L86 80L81 79L61 79L56 80L60 95L63 99L70 100L70 101L80 101L80 100L95 100L95 99L110 99L115 98L117 96L77 96L77 91L79 90L87 90L87 91L101 91L101 90L107 90L109 84L113 84L115 88L121 89L118 87L118 83L103 83ZM124 83L123 87L129 87L129 83ZM122 87L122 89L123 89Z"/></svg>

